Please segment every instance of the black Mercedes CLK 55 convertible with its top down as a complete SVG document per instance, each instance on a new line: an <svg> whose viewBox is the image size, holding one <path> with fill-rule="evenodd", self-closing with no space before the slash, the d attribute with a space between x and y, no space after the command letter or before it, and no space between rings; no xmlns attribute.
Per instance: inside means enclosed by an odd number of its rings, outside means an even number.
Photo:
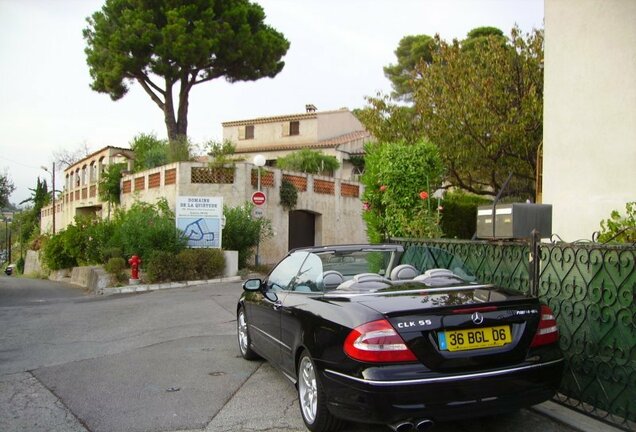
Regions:
<svg viewBox="0 0 636 432"><path fill-rule="evenodd" d="M241 354L296 384L314 432L344 419L422 431L543 402L561 379L550 308L440 249L296 249L243 289Z"/></svg>

